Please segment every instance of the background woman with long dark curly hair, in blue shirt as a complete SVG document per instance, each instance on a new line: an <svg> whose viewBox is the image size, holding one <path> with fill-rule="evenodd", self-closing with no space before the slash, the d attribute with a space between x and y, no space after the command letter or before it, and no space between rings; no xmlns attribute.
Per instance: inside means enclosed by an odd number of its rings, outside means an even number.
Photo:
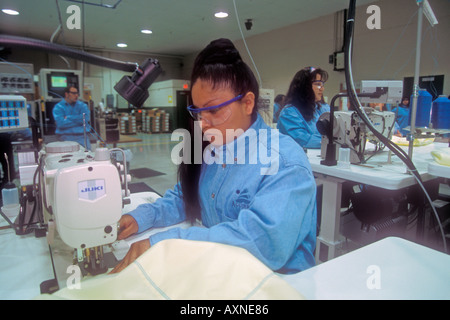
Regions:
<svg viewBox="0 0 450 320"><path fill-rule="evenodd" d="M320 68L306 67L298 71L286 94L286 106L280 113L277 128L291 136L306 149L319 149L322 135L317 120L330 106L323 100L328 73Z"/></svg>

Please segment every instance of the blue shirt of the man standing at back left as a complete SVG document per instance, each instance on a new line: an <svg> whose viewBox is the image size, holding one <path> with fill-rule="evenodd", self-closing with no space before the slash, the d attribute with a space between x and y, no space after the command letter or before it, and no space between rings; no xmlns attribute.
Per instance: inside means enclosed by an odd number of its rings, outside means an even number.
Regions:
<svg viewBox="0 0 450 320"><path fill-rule="evenodd" d="M83 113L86 119L86 132L90 131L90 111L86 103L77 100L74 105L70 105L66 100L61 100L53 108L53 118L56 123L55 133L63 141L76 141L84 146ZM89 137L87 147L90 149Z"/></svg>

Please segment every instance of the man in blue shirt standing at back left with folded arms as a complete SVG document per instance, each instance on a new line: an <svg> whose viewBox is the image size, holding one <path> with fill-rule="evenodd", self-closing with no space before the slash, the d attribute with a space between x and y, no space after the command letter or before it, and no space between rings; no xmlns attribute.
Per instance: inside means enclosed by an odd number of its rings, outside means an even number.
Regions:
<svg viewBox="0 0 450 320"><path fill-rule="evenodd" d="M61 141L75 141L86 149L91 149L89 141L90 111L86 103L78 100L79 91L68 86L64 90L64 99L53 108L53 118L56 123L56 135ZM84 132L86 123L86 139ZM86 143L85 143L86 140Z"/></svg>

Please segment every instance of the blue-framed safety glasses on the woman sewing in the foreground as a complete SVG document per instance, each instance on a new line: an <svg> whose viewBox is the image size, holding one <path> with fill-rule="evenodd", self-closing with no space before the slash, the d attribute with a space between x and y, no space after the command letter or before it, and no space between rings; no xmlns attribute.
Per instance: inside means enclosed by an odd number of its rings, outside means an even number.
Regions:
<svg viewBox="0 0 450 320"><path fill-rule="evenodd" d="M190 105L189 107L187 107L187 110L194 120L205 121L211 126L218 126L230 118L232 114L230 104L242 99L242 97L243 95L240 94L237 97L225 101L217 106L205 108L197 108L194 105Z"/></svg>

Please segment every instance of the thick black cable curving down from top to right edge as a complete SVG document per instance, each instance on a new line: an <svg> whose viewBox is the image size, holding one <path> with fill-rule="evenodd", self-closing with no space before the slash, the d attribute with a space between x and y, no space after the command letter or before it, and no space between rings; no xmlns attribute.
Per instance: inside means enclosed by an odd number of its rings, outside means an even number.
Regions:
<svg viewBox="0 0 450 320"><path fill-rule="evenodd" d="M433 209L433 212L435 214L437 223L439 224L439 228L441 230L441 236L443 240L443 246L444 246L444 252L447 253L447 243L445 234L442 228L442 223L439 219L439 216L437 215L436 209L433 205L433 202L431 201L430 196L428 195L428 192L426 191L422 178L420 177L420 174L418 173L414 163L411 161L409 156L406 154L406 152L401 149L399 146L394 144L392 141L384 137L374 126L372 125L371 121L368 119L367 114L364 112L361 102L358 99L354 81L353 81L353 73L352 73L352 49L353 49L353 28L355 24L355 7L356 7L356 0L350 0L349 10L348 10L348 18L347 18L347 36L346 36L346 43L345 43L345 81L347 85L347 92L348 97L350 101L352 102L352 105L358 114L358 116L364 121L364 123L367 125L367 127L372 131L372 133L382 142L386 147L388 147L394 154L396 154L407 166L408 172L410 172L415 179L417 180L419 186L422 188L423 192L425 193L425 196L430 203L430 206Z"/></svg>

